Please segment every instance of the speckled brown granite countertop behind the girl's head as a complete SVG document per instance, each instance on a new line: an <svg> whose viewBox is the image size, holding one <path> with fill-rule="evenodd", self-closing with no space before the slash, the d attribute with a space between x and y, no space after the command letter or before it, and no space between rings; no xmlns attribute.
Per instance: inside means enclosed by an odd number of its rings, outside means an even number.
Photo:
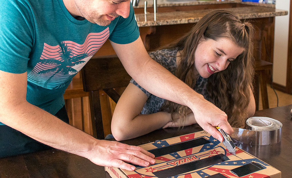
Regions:
<svg viewBox="0 0 292 178"><path fill-rule="evenodd" d="M170 0L160 0L157 1L157 6L165 6L166 4L162 4L161 1L170 1ZM173 0L171 0L173 1ZM288 11L278 10L273 6L263 6L263 5L272 5L272 4L259 4L259 3L244 3L238 0L235 1L219 1L222 3L241 3L252 5L249 7L234 7L234 8L220 8L228 11L235 12L240 19L250 19L250 18L265 18L265 17L275 17L281 15L287 15ZM141 2L139 2L140 4ZM192 3L199 4L210 4L210 3L218 3L217 1L196 1ZM172 4L173 5L173 4ZM180 6L190 5L187 4L179 4ZM194 4L191 4L194 5ZM153 6L153 3L152 3ZM178 4L176 4L178 6ZM144 7L144 6L143 6ZM195 23L200 20L205 14L214 9L204 9L204 10L193 10L193 11L174 11L174 12L162 12L159 13L147 13L147 14L135 14L135 18L138 24L138 27L149 27L149 26L159 26L159 25L175 25L175 24L185 24L185 23Z"/></svg>

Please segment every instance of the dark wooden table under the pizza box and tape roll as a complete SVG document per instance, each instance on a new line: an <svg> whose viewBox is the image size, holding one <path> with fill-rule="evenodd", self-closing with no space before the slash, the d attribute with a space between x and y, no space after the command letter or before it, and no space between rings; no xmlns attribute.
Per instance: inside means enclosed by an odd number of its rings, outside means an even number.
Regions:
<svg viewBox="0 0 292 178"><path fill-rule="evenodd" d="M277 119L283 124L282 140L272 145L236 144L239 148L251 153L282 172L282 178L291 177L292 168L292 105L256 111L255 116ZM136 139L123 141L127 144L141 145L155 140L167 139L200 131L196 125L182 130L167 128L156 130ZM47 150L20 156L0 159L0 178L6 177L86 177L110 178L104 167L91 163L88 159L60 150Z"/></svg>

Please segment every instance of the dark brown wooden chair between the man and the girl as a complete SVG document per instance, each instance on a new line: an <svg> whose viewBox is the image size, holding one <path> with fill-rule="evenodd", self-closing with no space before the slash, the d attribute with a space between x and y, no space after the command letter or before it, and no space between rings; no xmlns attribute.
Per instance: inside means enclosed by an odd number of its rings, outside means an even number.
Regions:
<svg viewBox="0 0 292 178"><path fill-rule="evenodd" d="M104 139L99 90L105 91L117 103L120 95L114 88L126 87L131 76L128 75L116 55L93 56L83 67L81 74L83 89L89 92L93 136Z"/></svg>

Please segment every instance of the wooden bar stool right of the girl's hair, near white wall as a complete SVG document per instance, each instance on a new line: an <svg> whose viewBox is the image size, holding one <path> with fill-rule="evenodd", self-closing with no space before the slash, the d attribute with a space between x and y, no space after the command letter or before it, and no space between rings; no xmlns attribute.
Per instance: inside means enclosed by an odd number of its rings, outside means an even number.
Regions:
<svg viewBox="0 0 292 178"><path fill-rule="evenodd" d="M255 78L253 83L254 97L256 101L256 111L259 105L259 93L261 93L263 109L269 108L268 92L267 92L267 71L273 68L273 63L264 60L256 60Z"/></svg>

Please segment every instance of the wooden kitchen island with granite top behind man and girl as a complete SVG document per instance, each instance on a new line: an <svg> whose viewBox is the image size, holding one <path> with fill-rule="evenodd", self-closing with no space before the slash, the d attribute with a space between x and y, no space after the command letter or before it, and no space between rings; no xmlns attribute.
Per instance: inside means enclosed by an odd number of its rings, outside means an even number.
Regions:
<svg viewBox="0 0 292 178"><path fill-rule="evenodd" d="M152 3L152 4L151 4ZM287 15L287 11L277 10L272 4L259 4L251 2L235 1L185 1L185 0L158 0L158 13L153 13L153 1L149 0L147 5L147 13L144 14L144 1L140 0L138 6L134 7L135 18L140 30L140 36L147 51L153 51L160 46L164 46L183 34L190 31L192 26L200 20L206 13L215 9L226 9L235 12L240 19L250 21L256 29L254 57L256 60L273 62L274 51L274 19L275 16ZM107 40L104 45L98 50L95 56L114 55L115 52ZM261 62L260 62L261 63ZM270 68L271 64L268 64ZM262 67L260 67L262 68ZM265 70L265 71L263 71ZM261 69L261 75L267 76L264 79L269 79L269 75L265 75L267 69ZM257 72L258 73L258 72ZM258 75L260 76L260 75ZM261 77L255 78L255 98L256 105L259 102L259 81ZM74 81L77 81L75 84ZM264 80L265 81L265 80ZM91 134L90 111L88 104L88 94L83 92L81 77L76 75L72 85L65 92L67 113L71 119L71 125L84 130ZM266 82L261 82L267 83ZM264 86L265 84L263 84ZM71 92L72 91L72 92ZM263 90L266 91L266 90ZM267 96L266 92L261 92ZM72 94L73 93L73 94ZM263 97L267 98L267 97ZM100 91L100 101L103 105L102 117L104 118L105 135L110 132L110 122L112 111L115 103L108 99L105 93ZM265 101L267 103L267 101ZM86 107L84 107L86 106ZM267 106L267 105L266 105ZM268 106L266 107L268 108ZM82 119L84 118L84 119ZM82 121L84 120L84 121ZM83 126L82 122L88 123Z"/></svg>

